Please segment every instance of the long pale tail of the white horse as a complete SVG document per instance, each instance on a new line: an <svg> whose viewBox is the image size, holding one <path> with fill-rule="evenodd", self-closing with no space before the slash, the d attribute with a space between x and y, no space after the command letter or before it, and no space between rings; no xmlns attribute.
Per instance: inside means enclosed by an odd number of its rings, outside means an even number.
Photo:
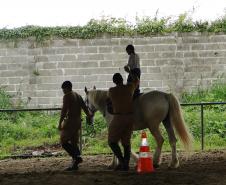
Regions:
<svg viewBox="0 0 226 185"><path fill-rule="evenodd" d="M180 140L182 141L185 150L188 152L192 149L193 137L187 128L181 112L181 106L177 98L173 94L169 94L169 116L170 122L175 127Z"/></svg>

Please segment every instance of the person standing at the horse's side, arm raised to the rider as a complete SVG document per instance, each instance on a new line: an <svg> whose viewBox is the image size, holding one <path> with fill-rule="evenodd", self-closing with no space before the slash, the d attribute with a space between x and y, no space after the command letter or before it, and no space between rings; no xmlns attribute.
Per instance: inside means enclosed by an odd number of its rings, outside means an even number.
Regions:
<svg viewBox="0 0 226 185"><path fill-rule="evenodd" d="M126 85L123 84L123 78L120 73L113 75L115 87L111 87L108 96L112 102L113 119L109 124L108 144L113 153L119 160L119 165L115 170L129 170L130 152L131 152L131 135L133 129L133 94L139 84L138 78L134 78ZM121 141L124 148L124 156L119 147Z"/></svg>

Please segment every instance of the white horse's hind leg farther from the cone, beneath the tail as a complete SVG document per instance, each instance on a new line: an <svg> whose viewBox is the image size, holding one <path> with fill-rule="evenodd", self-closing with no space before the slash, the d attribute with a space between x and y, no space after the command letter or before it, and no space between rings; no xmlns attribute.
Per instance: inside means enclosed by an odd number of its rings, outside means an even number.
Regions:
<svg viewBox="0 0 226 185"><path fill-rule="evenodd" d="M171 149L172 149L172 159L171 159L171 162L169 164L169 167L170 168L177 168L179 166L179 160L178 160L178 157L177 157L177 149L176 149L177 139L175 137L175 133L174 133L174 130L173 130L173 126L170 122L169 115L163 121L163 125L166 128L166 131L167 131L167 134L168 134L168 137L169 137L169 143L170 143L170 146L171 146Z"/></svg>

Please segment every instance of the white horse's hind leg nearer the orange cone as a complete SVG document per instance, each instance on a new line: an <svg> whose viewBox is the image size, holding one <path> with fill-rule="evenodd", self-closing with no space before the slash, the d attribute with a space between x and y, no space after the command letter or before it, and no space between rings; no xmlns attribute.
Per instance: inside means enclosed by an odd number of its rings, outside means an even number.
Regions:
<svg viewBox="0 0 226 185"><path fill-rule="evenodd" d="M152 125L154 125L154 124L152 123ZM154 136L156 143L157 143L157 147L155 149L155 153L154 153L154 157L153 157L154 167L157 168L161 164L161 152L162 152L162 144L164 142L164 139L159 130L159 123L156 124L154 127L153 126L150 127L149 130L152 133L152 135Z"/></svg>

